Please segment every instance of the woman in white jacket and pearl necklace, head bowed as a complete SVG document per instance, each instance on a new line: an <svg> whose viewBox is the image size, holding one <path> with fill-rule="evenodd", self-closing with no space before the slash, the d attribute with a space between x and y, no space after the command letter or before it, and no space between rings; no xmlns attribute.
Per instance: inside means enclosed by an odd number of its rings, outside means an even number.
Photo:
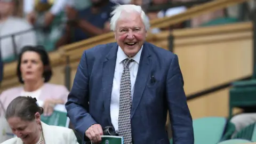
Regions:
<svg viewBox="0 0 256 144"><path fill-rule="evenodd" d="M17 137L2 144L77 144L73 130L47 125L41 121L43 108L36 101L36 98L31 97L17 97L11 101L5 118Z"/></svg>

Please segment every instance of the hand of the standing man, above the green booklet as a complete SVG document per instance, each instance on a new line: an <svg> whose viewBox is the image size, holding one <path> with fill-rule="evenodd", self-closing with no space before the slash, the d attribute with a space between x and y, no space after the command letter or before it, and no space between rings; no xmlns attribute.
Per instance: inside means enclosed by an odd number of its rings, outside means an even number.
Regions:
<svg viewBox="0 0 256 144"><path fill-rule="evenodd" d="M103 135L103 130L101 125L99 124L94 124L85 131L85 136L89 138L92 141L92 143L101 142L100 135Z"/></svg>

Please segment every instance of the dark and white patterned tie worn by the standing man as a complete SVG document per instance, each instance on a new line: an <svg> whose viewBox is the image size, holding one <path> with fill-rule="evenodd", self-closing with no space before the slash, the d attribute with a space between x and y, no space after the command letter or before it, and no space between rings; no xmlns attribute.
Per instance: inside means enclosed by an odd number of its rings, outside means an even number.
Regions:
<svg viewBox="0 0 256 144"><path fill-rule="evenodd" d="M131 79L129 65L132 59L124 60L124 70L121 77L120 84L120 98L119 98L119 116L118 116L118 130L119 136L124 138L124 144L132 143L132 128L131 128Z"/></svg>

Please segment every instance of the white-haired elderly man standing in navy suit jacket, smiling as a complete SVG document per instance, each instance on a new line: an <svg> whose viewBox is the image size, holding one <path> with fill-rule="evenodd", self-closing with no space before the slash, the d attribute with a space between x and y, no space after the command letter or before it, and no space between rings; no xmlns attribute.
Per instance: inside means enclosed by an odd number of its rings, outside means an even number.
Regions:
<svg viewBox="0 0 256 144"><path fill-rule="evenodd" d="M66 103L71 123L93 143L113 126L125 144L167 144L169 110L173 143L194 144L177 55L145 42L140 6L118 5L111 15L117 42L84 51Z"/></svg>

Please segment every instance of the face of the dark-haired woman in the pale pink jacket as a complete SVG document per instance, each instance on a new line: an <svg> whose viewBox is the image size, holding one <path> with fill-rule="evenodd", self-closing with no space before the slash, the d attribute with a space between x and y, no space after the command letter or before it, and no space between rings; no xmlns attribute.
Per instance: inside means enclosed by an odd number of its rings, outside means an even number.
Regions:
<svg viewBox="0 0 256 144"><path fill-rule="evenodd" d="M37 81L43 75L43 62L38 53L26 51L22 54L20 71L23 81Z"/></svg>

